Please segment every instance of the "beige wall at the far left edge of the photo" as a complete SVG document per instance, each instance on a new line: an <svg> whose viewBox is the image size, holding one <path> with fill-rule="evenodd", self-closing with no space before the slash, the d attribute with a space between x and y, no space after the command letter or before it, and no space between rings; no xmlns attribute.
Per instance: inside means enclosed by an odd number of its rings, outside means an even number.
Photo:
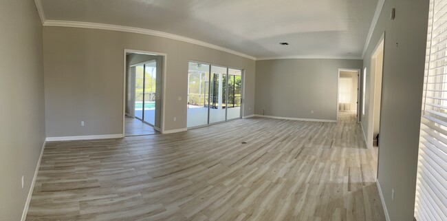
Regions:
<svg viewBox="0 0 447 221"><path fill-rule="evenodd" d="M45 140L42 23L34 1L1 1L0 30L0 220L15 221Z"/></svg>

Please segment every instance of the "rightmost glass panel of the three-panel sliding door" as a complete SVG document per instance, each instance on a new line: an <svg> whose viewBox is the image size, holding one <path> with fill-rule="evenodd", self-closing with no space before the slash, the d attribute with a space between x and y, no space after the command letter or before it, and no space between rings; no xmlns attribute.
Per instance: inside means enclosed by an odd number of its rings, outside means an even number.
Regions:
<svg viewBox="0 0 447 221"><path fill-rule="evenodd" d="M227 120L241 118L241 70L228 69Z"/></svg>

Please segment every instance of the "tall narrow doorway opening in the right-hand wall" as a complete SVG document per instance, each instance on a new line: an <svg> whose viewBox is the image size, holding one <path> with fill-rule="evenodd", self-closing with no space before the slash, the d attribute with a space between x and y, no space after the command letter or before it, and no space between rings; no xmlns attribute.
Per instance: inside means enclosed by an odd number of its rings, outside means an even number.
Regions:
<svg viewBox="0 0 447 221"><path fill-rule="evenodd" d="M368 137L369 147L380 145L380 104L382 100L382 74L384 58L384 39L378 43L371 56L371 80L369 93Z"/></svg>

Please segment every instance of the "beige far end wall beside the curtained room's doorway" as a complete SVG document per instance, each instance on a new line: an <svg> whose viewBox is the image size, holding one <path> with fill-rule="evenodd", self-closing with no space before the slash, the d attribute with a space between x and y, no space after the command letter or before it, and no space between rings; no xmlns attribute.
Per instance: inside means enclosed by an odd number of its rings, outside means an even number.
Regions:
<svg viewBox="0 0 447 221"><path fill-rule="evenodd" d="M362 60L257 61L255 114L336 120L338 68L361 67Z"/></svg>

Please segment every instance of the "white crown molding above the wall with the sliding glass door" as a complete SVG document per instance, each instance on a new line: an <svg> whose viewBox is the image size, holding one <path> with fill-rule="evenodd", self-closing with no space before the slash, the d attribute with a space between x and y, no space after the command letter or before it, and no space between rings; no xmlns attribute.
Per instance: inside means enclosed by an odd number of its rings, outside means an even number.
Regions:
<svg viewBox="0 0 447 221"><path fill-rule="evenodd" d="M237 56L242 56L247 59L256 60L254 56L250 56L248 54L243 54L241 52L237 52L235 50L230 50L228 48L223 48L218 45L213 45L211 43L206 43L204 41L199 41L196 39L190 39L184 36L179 36L176 34L169 34L166 32L160 32L156 30L149 30L144 28L135 28L135 27L129 27L129 26L123 26L123 25L110 25L110 24L104 24L104 23L91 23L91 22L81 22L81 21L58 21L58 20L45 20L43 23L44 26L58 26L58 27L72 27L72 28L93 28L93 29L101 29L101 30L113 30L113 31L119 31L119 32L131 32L131 33L138 33L138 34L147 34L152 36L160 36L164 37L166 39L174 39L177 41L184 41L187 43L193 43L195 45L201 45L206 48L212 48L215 50L219 50L222 52L227 52L230 54L235 54Z"/></svg>

